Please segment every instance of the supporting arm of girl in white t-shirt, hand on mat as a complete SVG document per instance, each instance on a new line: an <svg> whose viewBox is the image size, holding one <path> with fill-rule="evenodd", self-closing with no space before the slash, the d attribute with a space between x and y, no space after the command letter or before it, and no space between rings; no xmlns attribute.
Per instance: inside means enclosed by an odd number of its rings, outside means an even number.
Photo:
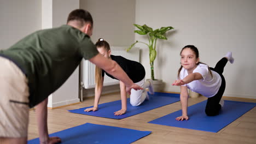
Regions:
<svg viewBox="0 0 256 144"><path fill-rule="evenodd" d="M188 120L188 87L181 86L181 105L182 105L182 116L177 117L177 121Z"/></svg>

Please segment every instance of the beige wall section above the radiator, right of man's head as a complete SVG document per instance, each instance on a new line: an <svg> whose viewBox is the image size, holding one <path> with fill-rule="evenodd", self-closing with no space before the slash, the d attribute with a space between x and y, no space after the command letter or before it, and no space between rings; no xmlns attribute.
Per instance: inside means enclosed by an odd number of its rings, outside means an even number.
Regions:
<svg viewBox="0 0 256 144"><path fill-rule="evenodd" d="M94 19L92 40L104 38L111 46L133 43L135 0L80 0L80 8L88 10Z"/></svg>

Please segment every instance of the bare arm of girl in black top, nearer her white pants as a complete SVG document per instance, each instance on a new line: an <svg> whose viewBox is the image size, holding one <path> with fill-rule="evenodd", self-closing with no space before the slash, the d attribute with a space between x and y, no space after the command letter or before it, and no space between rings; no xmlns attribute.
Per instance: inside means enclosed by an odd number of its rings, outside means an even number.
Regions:
<svg viewBox="0 0 256 144"><path fill-rule="evenodd" d="M125 92L125 84L124 82L120 81L120 93L121 93L121 103L122 107L121 110L114 112L115 116L123 115L127 110L127 96Z"/></svg>

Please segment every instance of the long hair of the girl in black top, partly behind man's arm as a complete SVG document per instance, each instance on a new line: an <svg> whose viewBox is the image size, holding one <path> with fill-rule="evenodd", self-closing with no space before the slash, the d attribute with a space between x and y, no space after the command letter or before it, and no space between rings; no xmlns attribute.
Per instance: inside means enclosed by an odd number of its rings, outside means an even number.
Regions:
<svg viewBox="0 0 256 144"><path fill-rule="evenodd" d="M108 42L106 40L102 39L102 38L98 39L98 41L95 45L96 45L97 48L102 47L106 51L110 50L110 46L109 46ZM96 83L97 88L102 87L101 81L102 81L102 69L96 65L96 68L95 68L95 83Z"/></svg>

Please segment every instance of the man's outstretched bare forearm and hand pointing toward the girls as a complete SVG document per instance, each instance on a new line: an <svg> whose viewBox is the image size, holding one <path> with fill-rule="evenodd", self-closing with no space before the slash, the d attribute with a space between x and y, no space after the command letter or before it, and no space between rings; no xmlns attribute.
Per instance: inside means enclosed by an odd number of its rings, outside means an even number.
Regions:
<svg viewBox="0 0 256 144"><path fill-rule="evenodd" d="M143 89L142 87L139 87L138 85L132 82L132 80L127 76L127 74L118 65L117 62L103 57L100 53L89 59L89 61L98 65L98 67L105 70L108 74L113 75L115 78L124 82L126 86L126 92L131 93L132 88L135 90Z"/></svg>

